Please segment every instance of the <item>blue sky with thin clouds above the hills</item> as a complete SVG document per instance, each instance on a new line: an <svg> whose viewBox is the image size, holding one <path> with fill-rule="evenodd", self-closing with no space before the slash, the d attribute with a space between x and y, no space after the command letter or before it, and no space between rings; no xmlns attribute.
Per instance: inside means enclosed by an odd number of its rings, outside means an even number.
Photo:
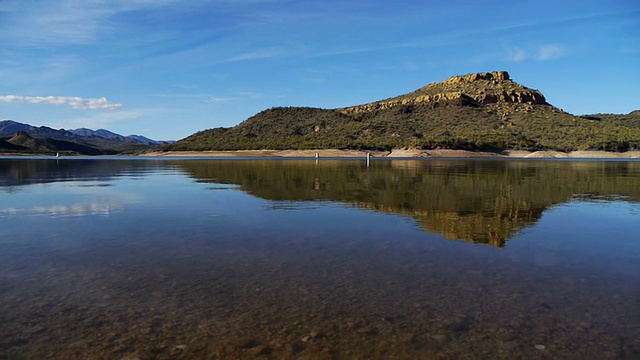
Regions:
<svg viewBox="0 0 640 360"><path fill-rule="evenodd" d="M181 139L507 70L573 114L640 109L640 2L0 0L0 120Z"/></svg>

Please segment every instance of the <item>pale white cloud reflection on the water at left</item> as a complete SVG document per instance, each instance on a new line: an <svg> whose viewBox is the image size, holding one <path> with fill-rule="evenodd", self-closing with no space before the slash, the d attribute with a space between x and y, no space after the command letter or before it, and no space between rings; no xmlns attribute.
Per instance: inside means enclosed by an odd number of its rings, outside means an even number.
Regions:
<svg viewBox="0 0 640 360"><path fill-rule="evenodd" d="M51 205L33 206L30 208L5 208L0 209L0 215L48 215L53 217L85 216L85 215L109 215L114 211L122 209L119 204L74 204L74 205Z"/></svg>

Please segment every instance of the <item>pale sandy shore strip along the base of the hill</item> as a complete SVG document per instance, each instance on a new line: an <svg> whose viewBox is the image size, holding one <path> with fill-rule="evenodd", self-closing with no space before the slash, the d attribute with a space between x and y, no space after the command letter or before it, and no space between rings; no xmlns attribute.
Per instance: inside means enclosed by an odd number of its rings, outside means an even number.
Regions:
<svg viewBox="0 0 640 360"><path fill-rule="evenodd" d="M640 151L614 153L606 151L503 151L480 152L467 150L419 150L398 149L393 151L358 151L358 150L238 150L238 151L168 151L151 152L141 156L209 156L209 157L365 157L370 153L373 157L439 157L439 158L573 158L573 159L640 159Z"/></svg>

